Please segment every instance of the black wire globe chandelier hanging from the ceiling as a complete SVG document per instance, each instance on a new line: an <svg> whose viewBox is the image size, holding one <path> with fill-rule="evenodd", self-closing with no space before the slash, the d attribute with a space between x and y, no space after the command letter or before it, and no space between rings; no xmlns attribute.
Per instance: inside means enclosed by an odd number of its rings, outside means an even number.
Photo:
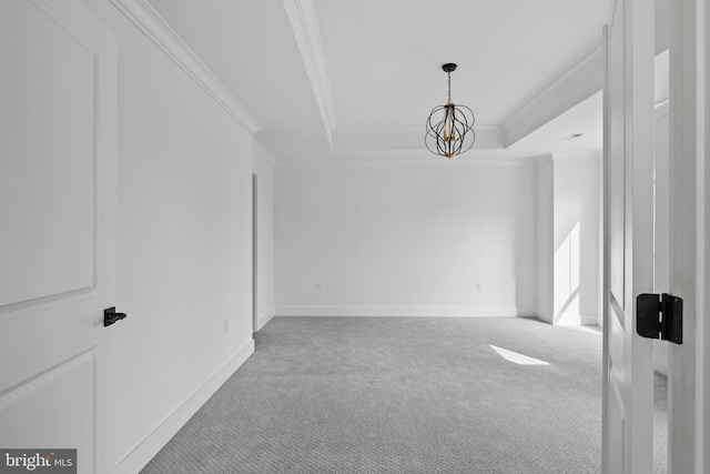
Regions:
<svg viewBox="0 0 710 474"><path fill-rule="evenodd" d="M466 105L452 102L452 72L456 70L456 64L449 62L442 69L448 74L448 101L429 113L424 142L432 153L452 158L466 153L474 145L476 133L473 127L476 118Z"/></svg>

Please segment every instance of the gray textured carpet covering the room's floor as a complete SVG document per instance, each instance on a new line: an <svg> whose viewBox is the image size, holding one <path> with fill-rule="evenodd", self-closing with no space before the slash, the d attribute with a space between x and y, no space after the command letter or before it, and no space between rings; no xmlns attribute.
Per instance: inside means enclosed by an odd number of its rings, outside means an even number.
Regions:
<svg viewBox="0 0 710 474"><path fill-rule="evenodd" d="M601 336L575 329L275 317L142 472L597 474L600 394Z"/></svg>

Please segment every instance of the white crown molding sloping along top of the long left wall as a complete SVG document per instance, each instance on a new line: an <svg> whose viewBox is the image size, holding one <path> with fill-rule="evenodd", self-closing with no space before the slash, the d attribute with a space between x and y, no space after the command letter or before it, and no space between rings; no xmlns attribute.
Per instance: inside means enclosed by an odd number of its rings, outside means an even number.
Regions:
<svg viewBox="0 0 710 474"><path fill-rule="evenodd" d="M110 0L110 2L246 131L254 135L262 129L256 119L232 95L150 3L145 0Z"/></svg>

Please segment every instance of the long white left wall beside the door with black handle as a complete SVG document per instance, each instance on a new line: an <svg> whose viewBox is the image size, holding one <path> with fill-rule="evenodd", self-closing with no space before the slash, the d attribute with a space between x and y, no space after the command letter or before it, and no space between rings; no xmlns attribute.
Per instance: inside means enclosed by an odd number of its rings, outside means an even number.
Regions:
<svg viewBox="0 0 710 474"><path fill-rule="evenodd" d="M119 46L116 462L138 472L253 352L252 139L110 2Z"/></svg>

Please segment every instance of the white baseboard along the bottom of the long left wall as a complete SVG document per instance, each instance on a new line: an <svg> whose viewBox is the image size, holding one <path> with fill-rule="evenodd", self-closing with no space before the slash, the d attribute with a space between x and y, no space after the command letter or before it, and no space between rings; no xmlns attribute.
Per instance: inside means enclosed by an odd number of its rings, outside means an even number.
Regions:
<svg viewBox="0 0 710 474"><path fill-rule="evenodd" d="M115 466L116 474L140 472L253 353L254 340L251 340L128 455L120 460Z"/></svg>

